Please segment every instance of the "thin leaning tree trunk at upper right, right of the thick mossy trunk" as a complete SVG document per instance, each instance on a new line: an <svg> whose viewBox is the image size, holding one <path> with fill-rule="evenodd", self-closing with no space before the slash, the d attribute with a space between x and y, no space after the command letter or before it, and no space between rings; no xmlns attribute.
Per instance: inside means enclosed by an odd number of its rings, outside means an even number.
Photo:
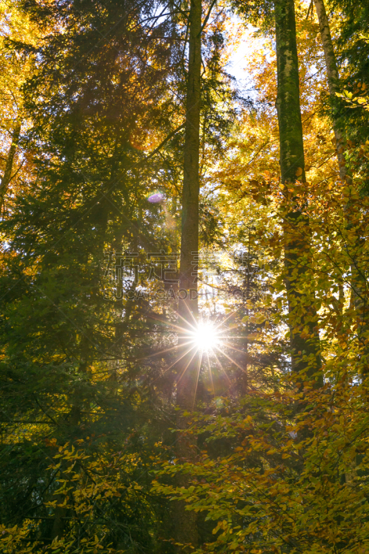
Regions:
<svg viewBox="0 0 369 554"><path fill-rule="evenodd" d="M336 92L339 92L339 70L337 68L336 55L334 54L332 35L330 34L330 22L325 11L324 0L314 0L316 14L318 15L321 41L327 66L328 88L330 96L334 100ZM339 125L334 121L334 136L336 138L337 159L339 161L339 176L344 181L346 178L345 157L343 156L343 135Z"/></svg>

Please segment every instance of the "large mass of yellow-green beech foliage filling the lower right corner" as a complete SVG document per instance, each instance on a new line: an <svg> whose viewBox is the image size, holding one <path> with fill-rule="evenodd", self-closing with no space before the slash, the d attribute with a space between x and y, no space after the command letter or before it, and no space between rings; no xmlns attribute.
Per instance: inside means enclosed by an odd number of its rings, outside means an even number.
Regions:
<svg viewBox="0 0 369 554"><path fill-rule="evenodd" d="M301 399L298 387L259 398L253 416L206 418L197 432L211 441L237 437L232 452L206 450L197 463L171 463L164 474L186 472L190 486L154 483L154 490L186 501L188 510L215 521L212 543L197 553L361 553L369 542L369 419L366 386L341 379L313 391L305 411L286 418ZM264 421L256 407L264 409ZM267 408L269 410L267 411ZM269 412L269 413L268 413ZM260 413L260 412L259 412ZM266 424L267 422L267 424ZM193 429L192 429L193 430Z"/></svg>

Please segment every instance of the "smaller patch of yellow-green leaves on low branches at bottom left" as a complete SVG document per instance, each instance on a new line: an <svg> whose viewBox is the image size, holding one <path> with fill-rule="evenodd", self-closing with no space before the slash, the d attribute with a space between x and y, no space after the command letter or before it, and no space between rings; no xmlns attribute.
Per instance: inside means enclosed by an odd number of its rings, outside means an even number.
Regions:
<svg viewBox="0 0 369 554"><path fill-rule="evenodd" d="M49 447L57 448L56 442L49 440ZM40 521L25 519L21 526L0 527L1 552L123 554L107 541L110 529L102 516L109 513L114 499L125 497L129 504L129 499L141 491L141 485L127 479L136 466L135 456L112 452L91 456L85 453L83 443L77 440L75 445L58 447L49 467L55 486L50 500L44 502L45 513L47 519L62 517L67 521L62 537L55 537L45 546Z"/></svg>

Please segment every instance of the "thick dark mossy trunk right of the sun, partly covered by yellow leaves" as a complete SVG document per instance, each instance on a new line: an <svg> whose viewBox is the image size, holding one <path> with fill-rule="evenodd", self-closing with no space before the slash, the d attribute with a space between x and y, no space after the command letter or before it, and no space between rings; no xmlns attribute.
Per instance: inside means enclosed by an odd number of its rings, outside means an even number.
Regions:
<svg viewBox="0 0 369 554"><path fill-rule="evenodd" d="M275 17L281 181L295 183L298 177L305 182L294 0L276 0ZM292 368L296 372L305 370L311 377L320 365L320 357L314 290L307 287L309 221L294 206L285 217L284 233Z"/></svg>

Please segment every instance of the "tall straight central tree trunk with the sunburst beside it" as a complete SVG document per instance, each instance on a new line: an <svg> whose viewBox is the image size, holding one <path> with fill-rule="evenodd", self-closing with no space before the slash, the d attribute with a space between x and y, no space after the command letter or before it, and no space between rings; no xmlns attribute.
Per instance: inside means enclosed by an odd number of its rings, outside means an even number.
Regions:
<svg viewBox="0 0 369 554"><path fill-rule="evenodd" d="M201 102L201 0L191 0L190 39L187 75L186 134L183 163L181 262L179 281L179 325L184 329L184 337L179 344L186 342L186 330L191 328L198 317L197 263L199 251L199 147L200 147L200 102ZM186 346L183 345L183 348ZM189 352L180 364L177 381L177 406L181 410L191 410L195 400L195 387L199 354ZM179 415L179 429L186 429L187 418ZM195 441L192 436L179 435L176 445L180 460L193 460ZM180 476L180 487L188 486L188 477ZM183 501L177 503L176 539L177 542L197 545L197 515L185 509Z"/></svg>

